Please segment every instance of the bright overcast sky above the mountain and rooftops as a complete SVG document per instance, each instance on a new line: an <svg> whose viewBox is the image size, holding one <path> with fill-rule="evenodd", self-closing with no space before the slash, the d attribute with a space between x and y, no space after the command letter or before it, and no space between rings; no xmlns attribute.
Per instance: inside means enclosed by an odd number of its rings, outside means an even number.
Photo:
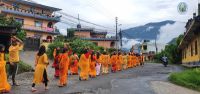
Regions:
<svg viewBox="0 0 200 94"><path fill-rule="evenodd" d="M175 20L186 22L197 11L198 0L33 0L61 8L63 12L101 25L114 26L119 17L123 27ZM179 14L177 6L186 2L188 11Z"/></svg>

